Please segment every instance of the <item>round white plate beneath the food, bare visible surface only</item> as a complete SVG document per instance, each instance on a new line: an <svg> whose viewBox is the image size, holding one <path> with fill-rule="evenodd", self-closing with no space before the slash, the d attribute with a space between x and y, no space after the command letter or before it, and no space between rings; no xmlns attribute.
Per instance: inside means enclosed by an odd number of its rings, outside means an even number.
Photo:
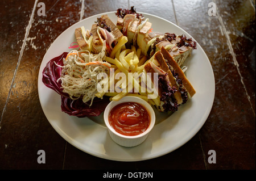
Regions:
<svg viewBox="0 0 256 181"><path fill-rule="evenodd" d="M155 15L142 13L149 18L154 31L171 32L177 35L183 33L191 37L174 23ZM106 12L115 23L115 12ZM146 141L133 148L125 148L116 144L108 134L103 112L97 117L79 118L69 116L61 111L60 95L49 89L42 82L42 72L47 62L63 52L69 52L69 45L75 40L75 28L84 26L90 29L95 20L103 14L98 14L81 20L65 30L47 50L39 70L38 94L43 112L49 123L69 144L96 157L114 161L142 161L160 157L176 150L189 141L203 127L212 109L215 81L212 66L204 50L197 43L197 49L185 61L188 70L185 74L196 94L182 106L179 111L168 115L155 110L156 123ZM196 41L193 39L193 41Z"/></svg>

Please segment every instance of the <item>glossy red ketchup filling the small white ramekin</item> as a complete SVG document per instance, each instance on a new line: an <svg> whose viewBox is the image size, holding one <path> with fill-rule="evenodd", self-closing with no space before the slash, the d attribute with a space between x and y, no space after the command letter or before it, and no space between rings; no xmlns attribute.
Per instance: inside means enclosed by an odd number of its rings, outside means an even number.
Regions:
<svg viewBox="0 0 256 181"><path fill-rule="evenodd" d="M135 136L146 131L150 125L150 115L141 104L125 102L110 111L109 124L120 134Z"/></svg>

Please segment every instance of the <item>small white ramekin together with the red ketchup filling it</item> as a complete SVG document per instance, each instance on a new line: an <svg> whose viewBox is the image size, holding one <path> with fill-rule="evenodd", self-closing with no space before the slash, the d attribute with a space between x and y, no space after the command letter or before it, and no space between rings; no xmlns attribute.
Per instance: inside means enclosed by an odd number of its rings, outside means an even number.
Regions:
<svg viewBox="0 0 256 181"><path fill-rule="evenodd" d="M108 104L104 121L114 142L133 147L146 140L155 125L155 112L145 100L125 96Z"/></svg>

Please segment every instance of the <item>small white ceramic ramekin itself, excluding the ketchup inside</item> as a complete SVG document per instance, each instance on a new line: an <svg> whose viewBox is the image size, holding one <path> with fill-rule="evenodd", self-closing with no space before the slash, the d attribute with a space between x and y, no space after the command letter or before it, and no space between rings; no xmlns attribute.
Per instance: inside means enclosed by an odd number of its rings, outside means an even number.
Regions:
<svg viewBox="0 0 256 181"><path fill-rule="evenodd" d="M150 125L141 134L138 134L136 136L125 136L123 134L120 134L114 130L109 124L109 112L112 110L113 107L117 106L120 103L124 102L135 102L141 104L144 108L146 108L148 114L150 115ZM144 140L146 140L148 134L152 130L152 128L155 125L155 112L153 108L151 107L150 104L148 104L145 100L138 98L137 96L124 96L121 100L119 101L112 101L108 104L104 111L104 121L106 124L106 127L108 128L108 132L110 137L114 142L121 146L126 146L126 147L133 147L141 144Z"/></svg>

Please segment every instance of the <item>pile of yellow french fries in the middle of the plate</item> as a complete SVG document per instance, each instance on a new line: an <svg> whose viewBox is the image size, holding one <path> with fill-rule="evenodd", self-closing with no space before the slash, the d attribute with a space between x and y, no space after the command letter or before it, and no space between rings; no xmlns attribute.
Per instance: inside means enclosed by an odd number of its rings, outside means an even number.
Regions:
<svg viewBox="0 0 256 181"><path fill-rule="evenodd" d="M114 75L117 73L125 73L126 75L126 85L125 91L121 92L97 92L96 96L98 98L102 98L102 96L109 96L110 101L118 101L123 98L123 96L138 96L139 98L142 98L146 100L148 103L152 105L158 105L160 103L159 98L156 99L148 99L148 91L143 91L141 87L141 82L138 79L134 79L134 77L131 77L128 73L142 73L144 70L144 65L147 64L148 61L152 61L152 56L149 60L147 60L147 57L141 54L141 49L136 49L134 46L131 46L130 49L127 49L125 47L125 44L127 43L127 37L123 36L121 40L118 41L117 45L113 48L112 52L109 56L105 57L105 61L112 64L111 68L114 68ZM127 81L130 78L132 80L132 86L128 86L129 81ZM109 77L109 83L108 83L108 89L110 89L110 85L112 83L116 83L117 80L110 79ZM131 83L131 82L130 82ZM122 85L123 87L123 85ZM132 90L134 87L138 87L137 92L133 92Z"/></svg>

